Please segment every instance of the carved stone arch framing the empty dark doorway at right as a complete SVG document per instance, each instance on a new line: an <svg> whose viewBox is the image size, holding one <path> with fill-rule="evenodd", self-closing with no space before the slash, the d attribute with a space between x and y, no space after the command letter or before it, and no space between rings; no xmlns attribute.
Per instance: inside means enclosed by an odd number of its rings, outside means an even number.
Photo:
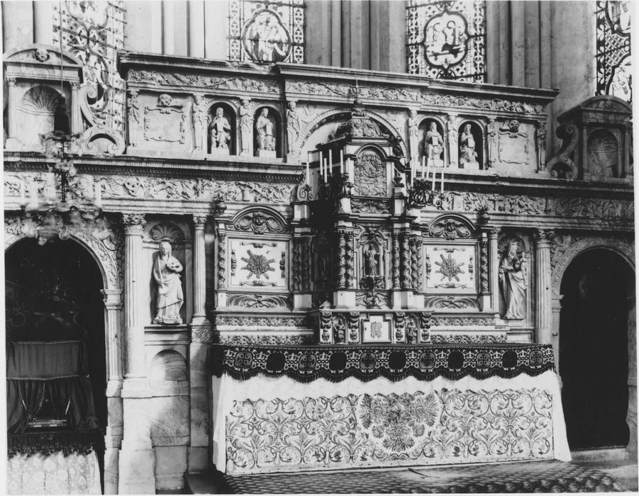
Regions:
<svg viewBox="0 0 639 496"><path fill-rule="evenodd" d="M630 441L626 447L630 453L637 453L637 378L636 378L636 327L635 327L635 262L634 247L622 240L606 237L587 237L571 244L562 256L557 260L552 271L552 345L555 349L555 363L560 365L560 317L562 312L562 281L574 261L584 254L596 250L613 254L627 269L632 271L626 277L627 288L627 354L628 354L628 411L626 412L626 424L630 429ZM620 281L621 282L621 281ZM604 309L601 309L604 311Z"/></svg>

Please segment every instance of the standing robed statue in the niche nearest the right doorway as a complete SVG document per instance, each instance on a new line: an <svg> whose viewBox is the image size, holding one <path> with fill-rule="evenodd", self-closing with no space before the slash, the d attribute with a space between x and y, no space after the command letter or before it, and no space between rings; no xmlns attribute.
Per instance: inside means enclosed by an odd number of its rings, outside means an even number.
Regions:
<svg viewBox="0 0 639 496"><path fill-rule="evenodd" d="M499 282L504 295L504 319L522 320L526 315L526 255L519 254L519 242L512 239L499 264Z"/></svg>

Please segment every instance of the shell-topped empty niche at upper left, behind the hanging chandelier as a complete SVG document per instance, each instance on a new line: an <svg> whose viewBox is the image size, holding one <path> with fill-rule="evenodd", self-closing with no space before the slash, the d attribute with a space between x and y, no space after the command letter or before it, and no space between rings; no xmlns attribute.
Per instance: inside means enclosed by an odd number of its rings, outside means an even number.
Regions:
<svg viewBox="0 0 639 496"><path fill-rule="evenodd" d="M55 113L63 97L49 86L34 86L21 101L23 119L20 126L20 140L24 144L37 144L40 135L55 130ZM26 115L25 115L26 114ZM67 130L68 130L67 116Z"/></svg>

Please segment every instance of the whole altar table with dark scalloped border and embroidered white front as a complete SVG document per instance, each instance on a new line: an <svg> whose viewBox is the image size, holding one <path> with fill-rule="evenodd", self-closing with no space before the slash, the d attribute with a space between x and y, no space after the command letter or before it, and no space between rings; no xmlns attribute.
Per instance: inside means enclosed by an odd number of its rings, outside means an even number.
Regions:
<svg viewBox="0 0 639 496"><path fill-rule="evenodd" d="M550 345L213 345L228 474L569 461Z"/></svg>

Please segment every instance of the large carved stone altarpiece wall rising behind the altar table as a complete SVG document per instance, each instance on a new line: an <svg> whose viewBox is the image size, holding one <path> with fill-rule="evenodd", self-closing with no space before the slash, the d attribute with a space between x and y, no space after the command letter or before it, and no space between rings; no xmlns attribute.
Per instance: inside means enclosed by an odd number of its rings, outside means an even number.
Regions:
<svg viewBox="0 0 639 496"><path fill-rule="evenodd" d="M6 58L16 85L46 73L36 49L56 54L34 47ZM70 65L73 89L79 66L58 56ZM72 188L89 200L97 184L109 219L106 235L76 238L107 281L110 490L170 487L180 470L206 468L216 428L206 365L213 341L326 349L551 343L562 254L582 239L600 239L633 259L628 155L618 152L617 172L598 173L597 182L585 172L557 174L577 160L569 152L545 158L546 106L556 91L131 52L121 52L119 67L128 146L111 157L78 158ZM13 95L10 124L18 118ZM616 105L599 98L602 115L610 110L605 102ZM73 96L67 102L72 116L79 112ZM224 155L209 153L217 108L230 128ZM275 157L255 156L261 108L273 117ZM621 120L610 136L584 134L599 139L589 155L599 166L611 157L611 139L628 150L629 114L613 114ZM436 189L423 180L430 122L443 140L443 191L439 178ZM460 167L466 123L482 152L476 168ZM7 244L23 236L21 203L43 188L46 170L43 158L11 151L17 134L6 143ZM36 151L29 142L20 149ZM152 325L150 265L164 239L184 266L183 325ZM528 262L521 319L506 317L500 295L511 239L520 240L518 256ZM157 418L190 422L162 426L137 415L149 405ZM127 467L133 459L148 467L155 461L155 475L135 480Z"/></svg>

